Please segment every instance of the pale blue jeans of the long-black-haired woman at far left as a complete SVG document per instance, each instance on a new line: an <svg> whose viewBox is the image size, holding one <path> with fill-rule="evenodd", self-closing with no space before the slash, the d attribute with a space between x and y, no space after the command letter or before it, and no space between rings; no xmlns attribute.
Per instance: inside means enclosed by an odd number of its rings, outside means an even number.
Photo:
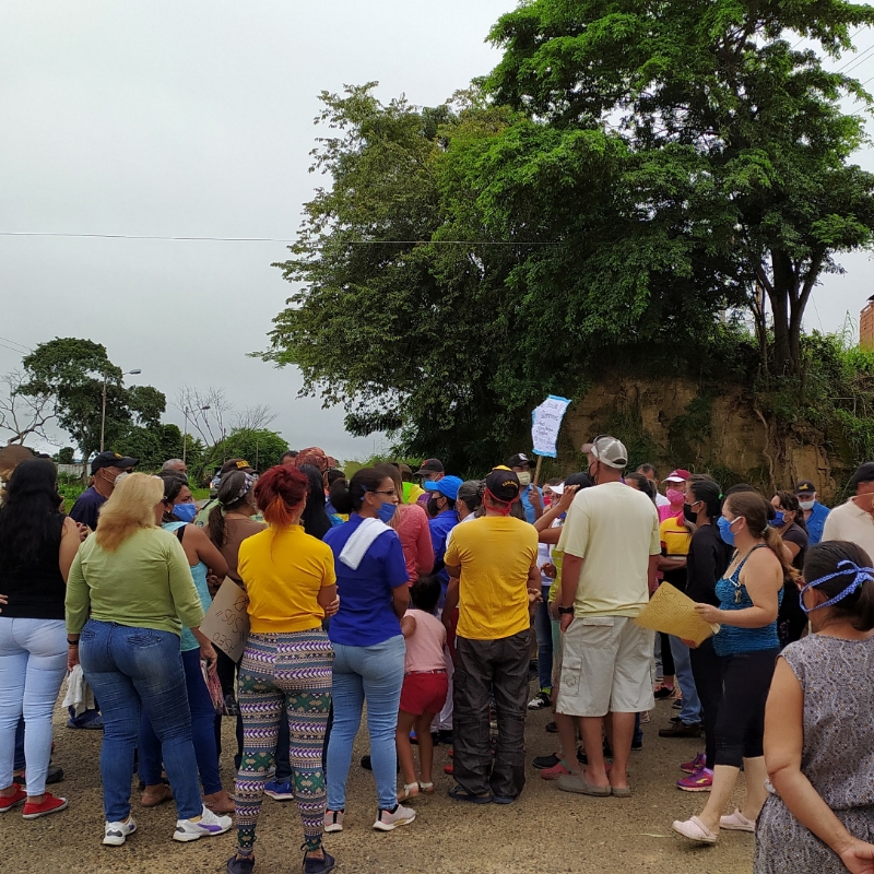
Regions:
<svg viewBox="0 0 874 874"><path fill-rule="evenodd" d="M27 794L46 791L51 711L66 673L63 619L0 616L0 789L12 786L15 739L23 716Z"/></svg>

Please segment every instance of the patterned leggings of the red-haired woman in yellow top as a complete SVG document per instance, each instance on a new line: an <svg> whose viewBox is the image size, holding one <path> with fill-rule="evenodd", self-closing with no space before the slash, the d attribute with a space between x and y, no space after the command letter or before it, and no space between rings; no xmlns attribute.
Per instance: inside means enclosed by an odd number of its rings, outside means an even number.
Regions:
<svg viewBox="0 0 874 874"><path fill-rule="evenodd" d="M288 711L294 796L308 850L321 846L324 825L322 743L331 706L333 649L321 628L281 635L250 634L238 677L243 761L237 773L237 840L251 851L283 701Z"/></svg>

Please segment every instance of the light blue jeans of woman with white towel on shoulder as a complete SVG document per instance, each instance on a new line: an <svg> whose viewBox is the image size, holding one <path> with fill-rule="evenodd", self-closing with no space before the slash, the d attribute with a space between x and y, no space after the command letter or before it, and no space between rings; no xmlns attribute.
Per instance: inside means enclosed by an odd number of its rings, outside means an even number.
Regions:
<svg viewBox="0 0 874 874"><path fill-rule="evenodd" d="M328 808L346 806L346 778L352 743L358 733L367 699L367 731L377 802L381 810L398 803L398 751L394 729L403 685L403 637L390 637L373 647L334 643L334 723L328 743Z"/></svg>

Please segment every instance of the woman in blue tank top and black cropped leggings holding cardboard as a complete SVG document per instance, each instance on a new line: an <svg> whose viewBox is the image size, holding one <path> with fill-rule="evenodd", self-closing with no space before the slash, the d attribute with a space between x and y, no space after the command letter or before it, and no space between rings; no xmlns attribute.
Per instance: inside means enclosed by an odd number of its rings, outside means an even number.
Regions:
<svg viewBox="0 0 874 874"><path fill-rule="evenodd" d="M768 503L757 492L729 495L719 529L735 547L717 582L719 606L696 604L698 615L722 627L713 638L722 676L716 724L716 766L707 806L700 816L675 822L674 831L700 843L716 843L719 829L754 831L767 792L763 752L765 701L780 651L777 612L787 579L796 576L786 560L780 534L768 524ZM722 812L734 791L741 764L746 802L730 816Z"/></svg>

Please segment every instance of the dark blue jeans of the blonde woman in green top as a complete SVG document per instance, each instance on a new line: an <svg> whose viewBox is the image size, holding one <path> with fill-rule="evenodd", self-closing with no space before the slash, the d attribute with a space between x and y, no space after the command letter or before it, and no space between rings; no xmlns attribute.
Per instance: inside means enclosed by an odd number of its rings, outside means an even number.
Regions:
<svg viewBox="0 0 874 874"><path fill-rule="evenodd" d="M106 822L122 822L130 815L141 710L161 740L179 818L199 816L203 804L179 636L88 619L80 636L79 658L103 711L101 777Z"/></svg>

